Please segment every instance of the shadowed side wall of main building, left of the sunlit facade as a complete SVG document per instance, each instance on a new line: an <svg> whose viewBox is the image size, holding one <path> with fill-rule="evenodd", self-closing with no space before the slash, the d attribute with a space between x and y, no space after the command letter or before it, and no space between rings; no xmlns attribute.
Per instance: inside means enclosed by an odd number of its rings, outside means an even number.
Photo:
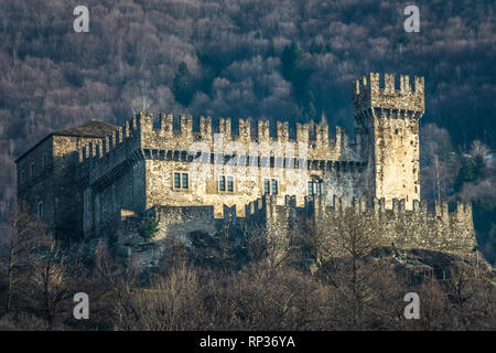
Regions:
<svg viewBox="0 0 496 353"><path fill-rule="evenodd" d="M145 167L136 119L78 150L77 180L85 238L105 236L120 210L143 213Z"/></svg>

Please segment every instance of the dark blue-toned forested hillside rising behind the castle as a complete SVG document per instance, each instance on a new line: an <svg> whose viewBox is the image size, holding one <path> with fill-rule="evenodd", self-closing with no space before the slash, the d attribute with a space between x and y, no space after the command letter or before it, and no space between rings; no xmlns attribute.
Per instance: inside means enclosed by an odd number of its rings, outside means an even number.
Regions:
<svg viewBox="0 0 496 353"><path fill-rule="evenodd" d="M424 167L438 169L422 182L440 180L440 162L451 178L431 199L495 194L486 165L496 147L494 1L416 1L420 33L403 30L405 1L87 0L89 33L75 33L78 4L0 3L2 220L14 201L13 159L54 129L93 117L121 124L140 110L325 115L352 127L351 81L368 72L425 76L422 124L434 122L449 145L430 137L438 145ZM474 140L485 148L482 164L477 153L463 159ZM492 222L485 227L489 234Z"/></svg>

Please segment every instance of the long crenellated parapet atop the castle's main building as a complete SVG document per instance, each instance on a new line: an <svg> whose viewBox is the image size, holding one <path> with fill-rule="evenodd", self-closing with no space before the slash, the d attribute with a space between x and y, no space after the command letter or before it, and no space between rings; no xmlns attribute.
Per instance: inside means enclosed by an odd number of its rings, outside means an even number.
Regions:
<svg viewBox="0 0 496 353"><path fill-rule="evenodd" d="M143 114L126 121L101 142L89 142L79 148L79 161L98 163L114 151L132 152L132 149L149 149L164 151L191 151L203 143L214 150L237 150L242 147L245 152L257 151L270 157L277 153L294 153L303 151L309 160L359 160L355 141L351 142L346 128L335 127L335 133L330 137L326 124L315 125L310 131L309 124L295 124L295 135L290 137L290 124L276 121L276 136L270 133L269 120L239 119L238 129L233 129L230 118L218 119L216 132L211 117L198 118L197 128L193 129L193 117L180 115L175 121L172 114L161 114L154 121L151 114ZM237 145L233 145L237 143ZM259 148L256 148L256 143Z"/></svg>

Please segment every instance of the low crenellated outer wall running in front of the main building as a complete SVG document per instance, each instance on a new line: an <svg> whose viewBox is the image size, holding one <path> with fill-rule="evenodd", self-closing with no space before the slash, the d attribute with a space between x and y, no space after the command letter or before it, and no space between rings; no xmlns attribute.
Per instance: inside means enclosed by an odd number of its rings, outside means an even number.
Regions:
<svg viewBox="0 0 496 353"><path fill-rule="evenodd" d="M246 204L245 216L236 216L236 206L223 206L222 218L214 220L213 207L166 206L153 207L161 228L161 238L184 236L185 231L215 232L230 222L260 226L267 236L288 239L292 229L304 232L305 220L313 220L316 232L335 235L338 220L347 216L364 216L357 225L378 229L377 244L399 248L427 248L461 255L468 255L475 246L475 235L470 203L457 203L453 212L448 203L436 203L428 210L424 201L413 202L411 211L406 210L406 200L395 200L392 208L386 207L384 199L367 200L333 195L326 204L324 196L308 196L303 207L296 206L295 195L285 195L284 203L278 204L274 195L263 195ZM161 210L160 214L155 210ZM157 213L157 214L155 214ZM345 222L353 222L346 218ZM365 223L364 223L365 222ZM215 224L215 226L214 226ZM299 232L300 232L299 231ZM338 231L341 232L341 231ZM338 239L336 239L338 240ZM335 249L337 253L338 248ZM336 253L336 254L337 254Z"/></svg>

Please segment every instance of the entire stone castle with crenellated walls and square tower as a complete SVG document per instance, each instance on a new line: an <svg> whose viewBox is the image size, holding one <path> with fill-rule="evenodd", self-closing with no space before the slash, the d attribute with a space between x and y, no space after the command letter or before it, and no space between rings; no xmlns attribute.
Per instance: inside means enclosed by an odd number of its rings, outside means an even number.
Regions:
<svg viewBox="0 0 496 353"><path fill-rule="evenodd" d="M18 199L63 237L125 239L149 217L158 240L213 233L226 218L284 233L291 221L324 226L353 210L375 215L387 244L468 254L471 204L420 201L424 81L398 78L353 82L353 140L341 127L331 138L325 121L149 114L55 131L17 160Z"/></svg>

